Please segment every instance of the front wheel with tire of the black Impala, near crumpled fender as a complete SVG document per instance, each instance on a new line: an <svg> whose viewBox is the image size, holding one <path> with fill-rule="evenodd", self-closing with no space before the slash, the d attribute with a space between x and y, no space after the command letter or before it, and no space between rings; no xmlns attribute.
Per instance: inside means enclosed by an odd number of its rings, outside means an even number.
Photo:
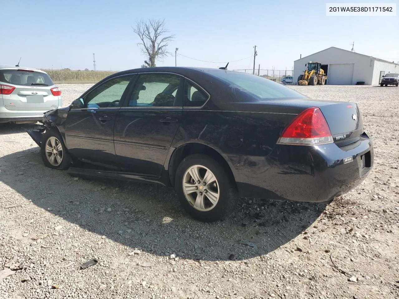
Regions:
<svg viewBox="0 0 399 299"><path fill-rule="evenodd" d="M40 145L44 165L52 169L65 170L69 167L69 156L61 136L54 130L43 135Z"/></svg>

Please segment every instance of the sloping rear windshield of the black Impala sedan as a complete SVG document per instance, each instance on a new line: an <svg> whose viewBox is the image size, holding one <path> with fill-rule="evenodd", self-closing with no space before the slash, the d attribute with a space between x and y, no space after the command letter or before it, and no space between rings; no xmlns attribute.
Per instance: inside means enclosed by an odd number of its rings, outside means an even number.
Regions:
<svg viewBox="0 0 399 299"><path fill-rule="evenodd" d="M306 98L306 96L269 79L238 72L209 71L232 88L251 94L260 100Z"/></svg>

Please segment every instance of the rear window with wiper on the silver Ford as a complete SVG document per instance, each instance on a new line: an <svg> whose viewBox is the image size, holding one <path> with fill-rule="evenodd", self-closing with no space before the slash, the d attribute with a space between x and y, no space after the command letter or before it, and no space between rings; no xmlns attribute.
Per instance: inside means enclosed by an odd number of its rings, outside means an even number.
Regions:
<svg viewBox="0 0 399 299"><path fill-rule="evenodd" d="M23 86L51 86L54 85L49 75L36 71L24 71L17 69L0 70L0 81L12 85Z"/></svg>

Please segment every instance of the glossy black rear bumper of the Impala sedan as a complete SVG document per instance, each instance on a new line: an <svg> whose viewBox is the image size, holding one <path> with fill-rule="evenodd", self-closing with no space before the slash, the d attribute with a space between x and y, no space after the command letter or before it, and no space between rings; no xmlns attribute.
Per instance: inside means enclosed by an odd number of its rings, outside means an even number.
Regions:
<svg viewBox="0 0 399 299"><path fill-rule="evenodd" d="M323 202L359 185L373 167L373 145L364 134L346 147L278 145L267 157L229 157L243 197ZM344 159L353 161L344 163Z"/></svg>

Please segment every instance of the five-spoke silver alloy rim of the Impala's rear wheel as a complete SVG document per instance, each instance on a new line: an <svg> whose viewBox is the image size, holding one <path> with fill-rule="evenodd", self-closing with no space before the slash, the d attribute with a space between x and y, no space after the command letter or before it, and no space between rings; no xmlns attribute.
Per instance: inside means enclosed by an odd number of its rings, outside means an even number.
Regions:
<svg viewBox="0 0 399 299"><path fill-rule="evenodd" d="M215 175L203 165L193 165L184 173L183 192L190 205L202 212L213 209L220 196Z"/></svg>

